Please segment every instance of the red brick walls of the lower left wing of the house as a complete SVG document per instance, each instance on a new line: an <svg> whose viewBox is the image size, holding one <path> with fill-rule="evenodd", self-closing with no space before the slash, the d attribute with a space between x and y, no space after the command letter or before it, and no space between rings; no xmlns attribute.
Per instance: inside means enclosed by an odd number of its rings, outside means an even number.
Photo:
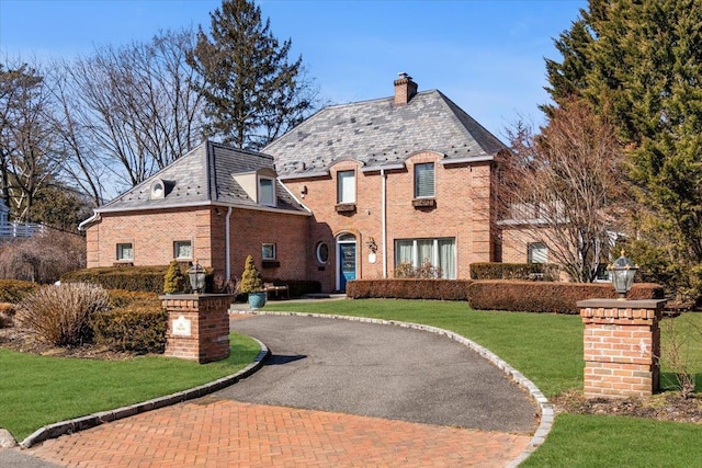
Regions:
<svg viewBox="0 0 702 468"><path fill-rule="evenodd" d="M88 267L112 266L116 244L134 246L135 265L166 265L173 259L173 242L190 240L193 260L224 275L226 207L144 210L102 214L87 230ZM240 278L248 254L265 278L304 279L308 221L305 215L233 209L230 222L231 276ZM262 243L275 243L280 266L262 267Z"/></svg>

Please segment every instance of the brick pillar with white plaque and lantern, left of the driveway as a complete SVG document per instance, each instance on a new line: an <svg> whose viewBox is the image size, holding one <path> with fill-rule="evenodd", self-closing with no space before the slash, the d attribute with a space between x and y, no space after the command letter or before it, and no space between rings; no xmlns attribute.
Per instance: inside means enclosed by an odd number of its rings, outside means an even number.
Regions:
<svg viewBox="0 0 702 468"><path fill-rule="evenodd" d="M227 294L160 296L168 311L166 353L200 364L229 356L229 305Z"/></svg>

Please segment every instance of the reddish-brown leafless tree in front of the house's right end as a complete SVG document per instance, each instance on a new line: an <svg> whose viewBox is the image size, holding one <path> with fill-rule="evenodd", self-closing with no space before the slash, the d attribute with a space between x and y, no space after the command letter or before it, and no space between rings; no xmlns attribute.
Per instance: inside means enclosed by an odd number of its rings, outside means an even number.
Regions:
<svg viewBox="0 0 702 468"><path fill-rule="evenodd" d="M619 226L625 194L615 132L584 102L554 109L540 135L519 125L500 161L502 226L542 240L550 262L576 282L592 282ZM523 242L525 244L525 242Z"/></svg>

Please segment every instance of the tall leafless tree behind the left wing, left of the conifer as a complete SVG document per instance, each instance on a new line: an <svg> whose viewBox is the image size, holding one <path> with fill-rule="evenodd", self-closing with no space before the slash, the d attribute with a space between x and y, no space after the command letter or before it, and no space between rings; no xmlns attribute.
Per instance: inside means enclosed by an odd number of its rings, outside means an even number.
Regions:
<svg viewBox="0 0 702 468"><path fill-rule="evenodd" d="M104 168L113 182L132 186L201 141L200 78L185 61L194 41L192 31L161 32L148 44L104 47L64 65L69 171L95 201L103 196Z"/></svg>

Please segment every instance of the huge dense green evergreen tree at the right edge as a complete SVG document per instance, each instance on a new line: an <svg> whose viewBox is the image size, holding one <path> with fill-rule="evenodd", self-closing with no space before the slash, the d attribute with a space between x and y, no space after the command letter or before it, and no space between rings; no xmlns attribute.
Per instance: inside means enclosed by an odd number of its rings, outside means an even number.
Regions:
<svg viewBox="0 0 702 468"><path fill-rule="evenodd" d="M575 94L611 116L642 204L635 228L671 263L684 265L686 277L678 279L697 289L702 285L702 0L590 0L556 47L563 61L546 61L547 91L557 105Z"/></svg>

